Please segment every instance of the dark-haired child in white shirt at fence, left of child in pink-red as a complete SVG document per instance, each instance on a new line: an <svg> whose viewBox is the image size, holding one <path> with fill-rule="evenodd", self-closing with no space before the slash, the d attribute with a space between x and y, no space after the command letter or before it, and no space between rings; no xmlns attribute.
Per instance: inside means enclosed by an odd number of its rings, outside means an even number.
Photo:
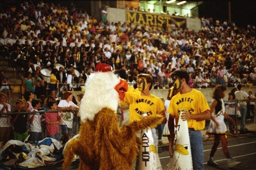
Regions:
<svg viewBox="0 0 256 170"><path fill-rule="evenodd" d="M32 100L32 106L33 109L31 109L31 112L37 112L37 113L32 113L29 114L29 141L40 141L42 139L42 126L41 126L41 120L44 118L44 114L40 115L38 113L38 109L41 107L41 103L39 102L38 99L33 99Z"/></svg>

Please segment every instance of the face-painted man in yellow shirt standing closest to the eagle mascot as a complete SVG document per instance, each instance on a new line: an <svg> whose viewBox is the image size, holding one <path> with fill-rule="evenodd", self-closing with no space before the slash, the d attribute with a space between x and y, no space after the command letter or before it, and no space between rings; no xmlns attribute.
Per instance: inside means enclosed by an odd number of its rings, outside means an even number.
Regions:
<svg viewBox="0 0 256 170"><path fill-rule="evenodd" d="M130 122L141 120L142 113L148 116L160 114L164 117L162 124L165 124L166 116L164 104L159 97L150 93L153 85L153 78L149 74L139 74L137 78L139 92L126 92L122 105L129 105ZM157 146L156 129L152 129L155 146Z"/></svg>

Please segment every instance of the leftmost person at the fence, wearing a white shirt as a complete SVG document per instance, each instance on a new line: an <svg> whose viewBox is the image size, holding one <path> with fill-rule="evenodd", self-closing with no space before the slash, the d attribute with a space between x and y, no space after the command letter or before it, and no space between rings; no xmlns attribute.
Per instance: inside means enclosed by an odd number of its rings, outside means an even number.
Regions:
<svg viewBox="0 0 256 170"><path fill-rule="evenodd" d="M4 114L10 112L11 106L6 103L6 95L0 92L0 142L6 143L10 139L10 133L12 131L10 115Z"/></svg>

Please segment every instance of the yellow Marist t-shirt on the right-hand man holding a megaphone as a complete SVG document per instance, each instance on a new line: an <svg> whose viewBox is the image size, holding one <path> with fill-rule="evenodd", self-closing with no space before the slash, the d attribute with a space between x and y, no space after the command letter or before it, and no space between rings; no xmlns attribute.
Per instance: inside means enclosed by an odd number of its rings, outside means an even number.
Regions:
<svg viewBox="0 0 256 170"><path fill-rule="evenodd" d="M176 124L178 124L180 110L185 109L190 114L200 114L206 110L210 110L210 107L206 101L204 95L195 89L192 89L189 93L178 93L171 98L168 112L175 116ZM188 122L188 128L194 128L194 130L202 130L205 126L205 121L196 121L190 119Z"/></svg>

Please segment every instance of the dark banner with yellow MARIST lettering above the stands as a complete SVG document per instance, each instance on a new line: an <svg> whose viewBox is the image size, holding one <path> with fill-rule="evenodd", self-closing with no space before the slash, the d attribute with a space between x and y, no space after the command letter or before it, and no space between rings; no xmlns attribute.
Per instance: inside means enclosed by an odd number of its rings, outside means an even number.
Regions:
<svg viewBox="0 0 256 170"><path fill-rule="evenodd" d="M166 21L167 26L174 23L178 28L186 28L186 18L176 17L173 15L162 15L162 14L152 14L147 12L140 11L125 11L125 18L127 23L138 24L138 25L147 25L161 27Z"/></svg>

